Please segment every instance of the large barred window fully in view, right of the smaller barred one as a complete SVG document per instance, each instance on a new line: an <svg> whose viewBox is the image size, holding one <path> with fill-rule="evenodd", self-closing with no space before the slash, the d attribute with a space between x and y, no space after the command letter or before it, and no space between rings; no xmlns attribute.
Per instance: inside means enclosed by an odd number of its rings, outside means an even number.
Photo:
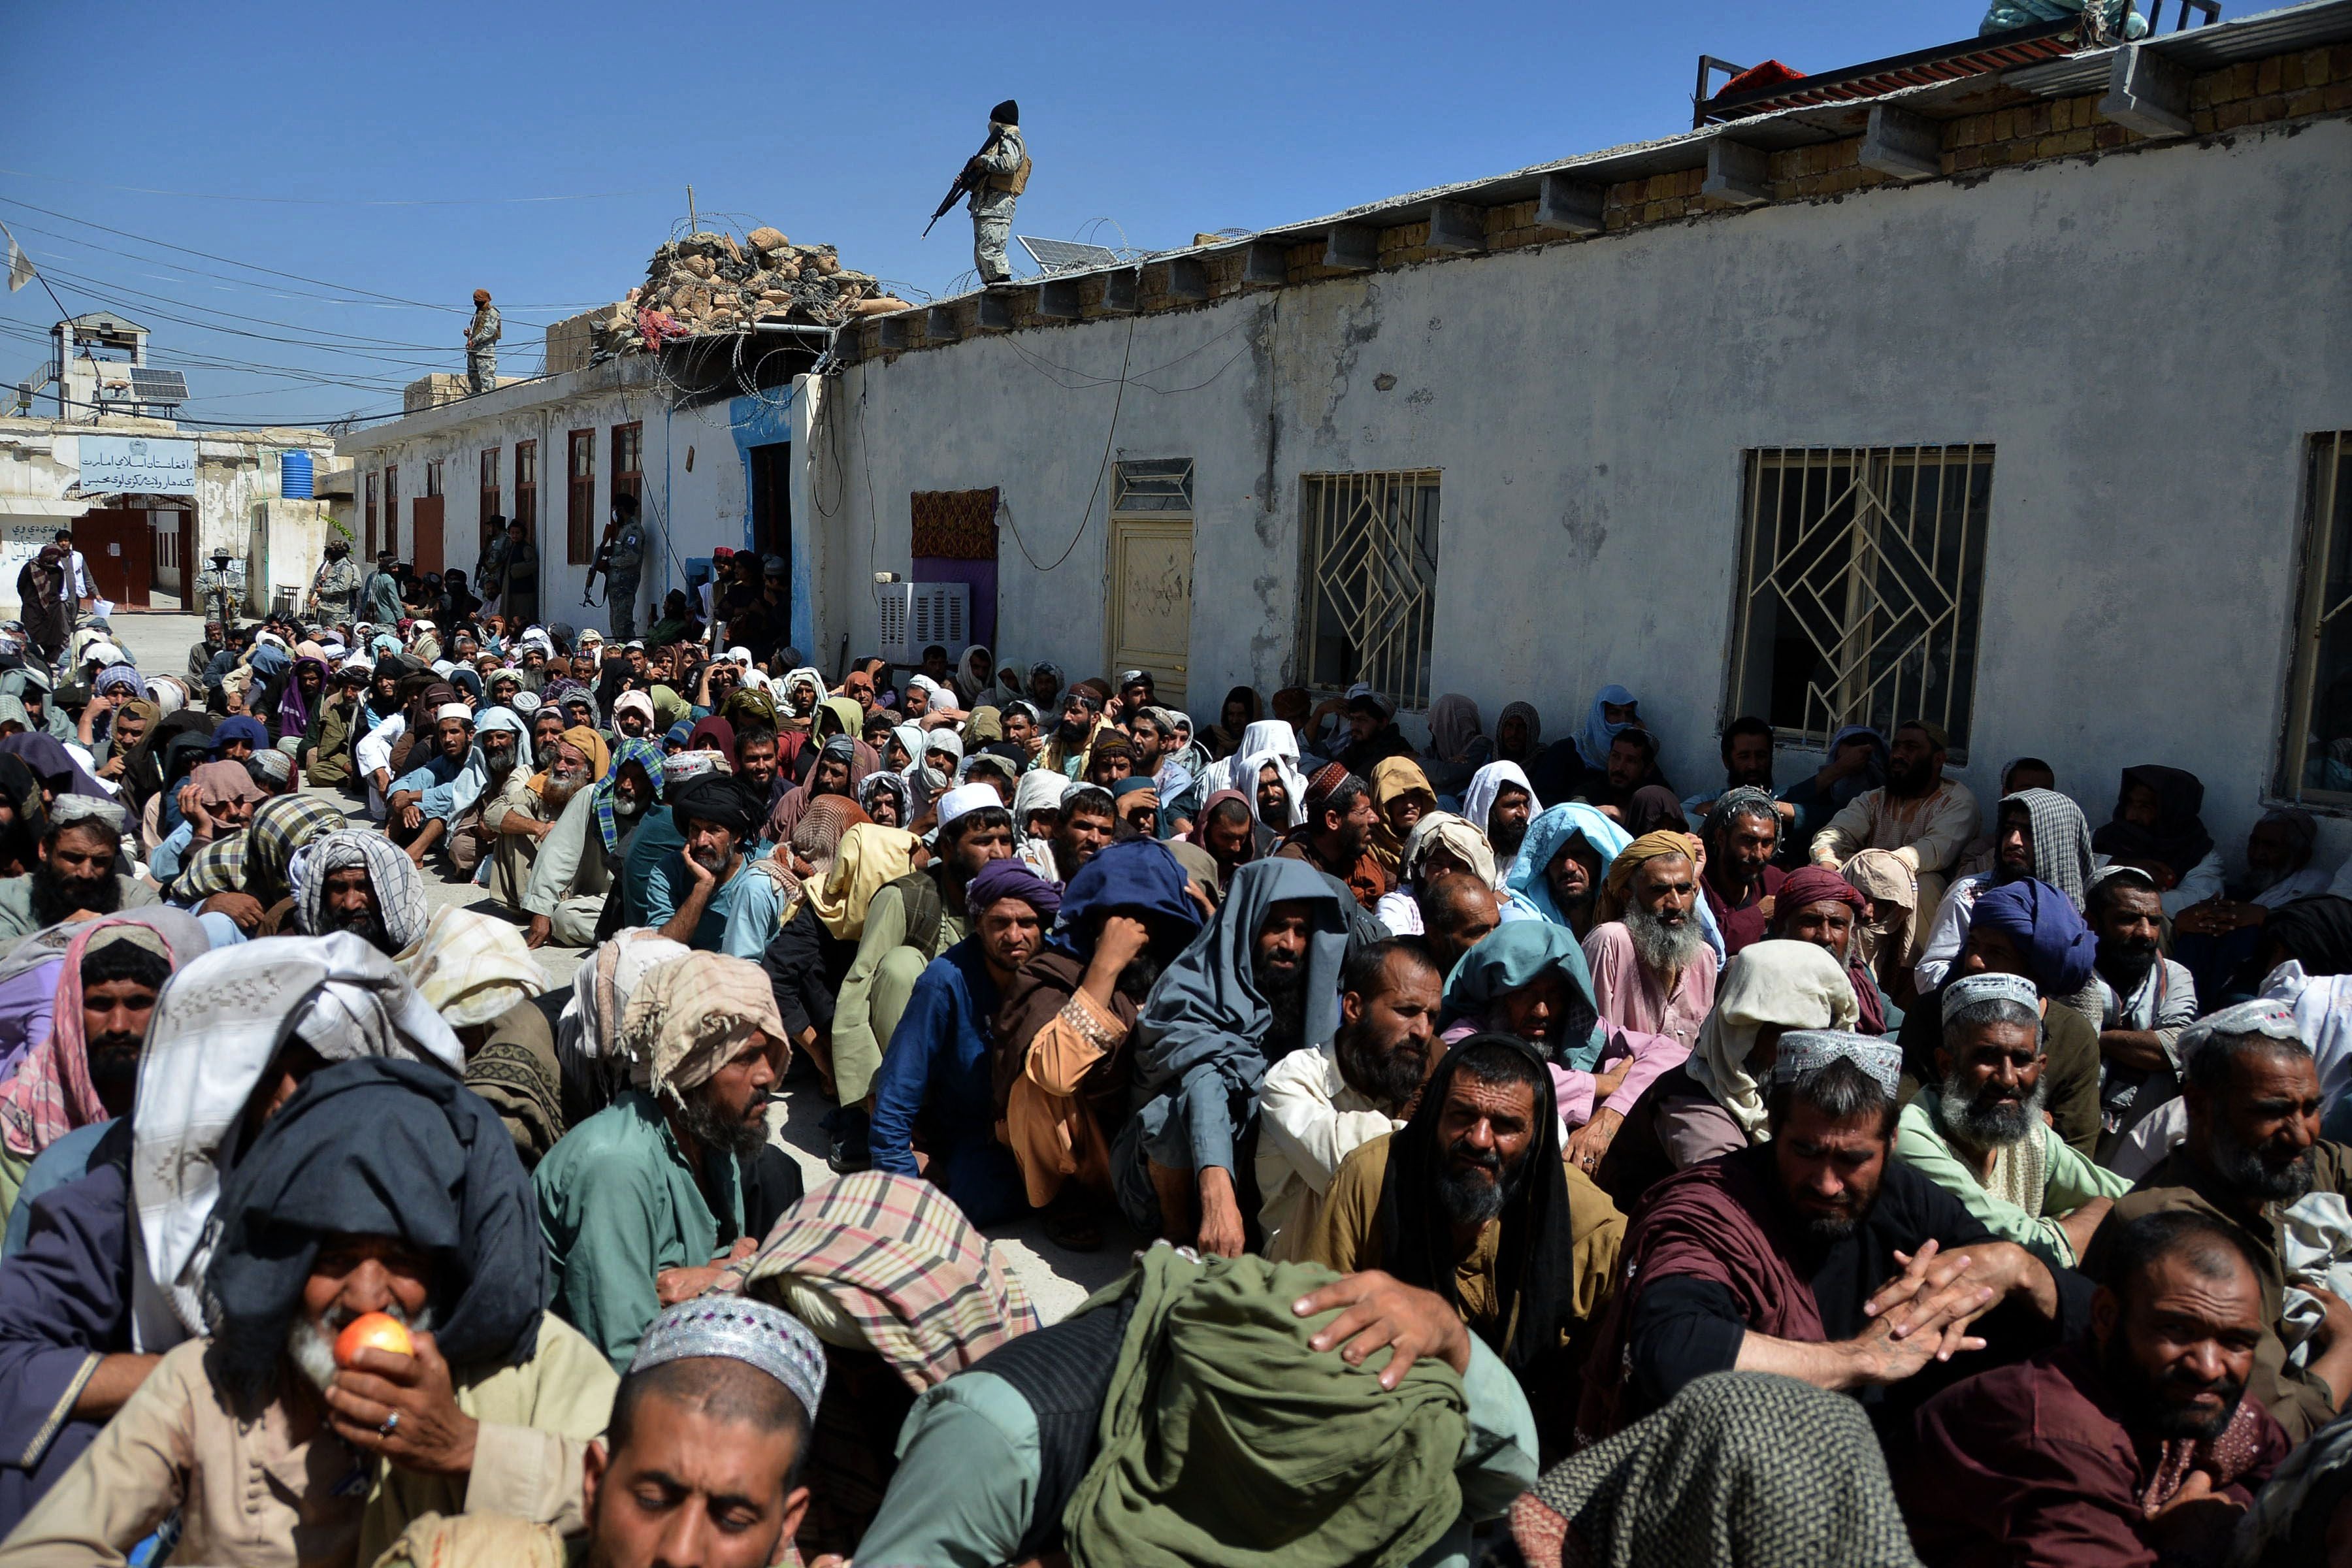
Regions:
<svg viewBox="0 0 2352 1568"><path fill-rule="evenodd" d="M1792 741L1933 719L1966 757L1992 447L1748 454L1731 710Z"/></svg>

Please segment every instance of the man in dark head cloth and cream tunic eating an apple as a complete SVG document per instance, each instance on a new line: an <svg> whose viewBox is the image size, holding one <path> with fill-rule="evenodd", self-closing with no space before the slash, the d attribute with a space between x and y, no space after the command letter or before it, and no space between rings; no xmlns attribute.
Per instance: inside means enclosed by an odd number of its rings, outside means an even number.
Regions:
<svg viewBox="0 0 2352 1568"><path fill-rule="evenodd" d="M296 1537L374 1561L426 1512L569 1512L612 1373L541 1309L529 1182L437 1067L306 1081L221 1192L205 1286L207 1338L155 1366L12 1552L122 1561L176 1512L191 1561L285 1561ZM365 1312L405 1321L414 1354L339 1361Z"/></svg>

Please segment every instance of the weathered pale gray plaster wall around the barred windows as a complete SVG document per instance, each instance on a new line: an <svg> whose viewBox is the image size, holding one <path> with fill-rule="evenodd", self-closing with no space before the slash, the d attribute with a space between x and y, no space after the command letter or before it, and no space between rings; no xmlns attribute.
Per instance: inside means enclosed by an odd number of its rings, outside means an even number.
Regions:
<svg viewBox="0 0 2352 1568"><path fill-rule="evenodd" d="M856 364L814 442L828 646L875 642L908 491L995 484L1002 658L1101 670L1108 440L1197 463L1195 708L1272 689L1298 477L1439 468L1432 691L1489 722L1529 698L1557 738L1621 682L1696 788L1743 454L1990 442L1969 783L2032 750L2096 823L2122 766L2169 762L2234 846L2281 726L2300 442L2352 425L2347 216L2352 125L2324 120Z"/></svg>

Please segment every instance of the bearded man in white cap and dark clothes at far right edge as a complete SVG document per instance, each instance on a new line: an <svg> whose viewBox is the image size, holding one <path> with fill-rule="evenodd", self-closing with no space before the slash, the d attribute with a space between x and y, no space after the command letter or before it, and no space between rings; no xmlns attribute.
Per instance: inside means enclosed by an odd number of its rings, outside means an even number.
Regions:
<svg viewBox="0 0 2352 1568"><path fill-rule="evenodd" d="M2281 1213L2312 1192L2352 1197L2352 1150L2319 1138L2319 1070L2286 1004L2256 999L2199 1018L2180 1037L2180 1058L2187 1138L2117 1199L2084 1267L2098 1272L2107 1232L2145 1213L2197 1208L2227 1222L2263 1279L2265 1328L2246 1394L2300 1443L2352 1392L2352 1307L2298 1284L2319 1326L2307 1328L2307 1307L2288 1321ZM2288 1335L2305 1340L2303 1366L2286 1359Z"/></svg>

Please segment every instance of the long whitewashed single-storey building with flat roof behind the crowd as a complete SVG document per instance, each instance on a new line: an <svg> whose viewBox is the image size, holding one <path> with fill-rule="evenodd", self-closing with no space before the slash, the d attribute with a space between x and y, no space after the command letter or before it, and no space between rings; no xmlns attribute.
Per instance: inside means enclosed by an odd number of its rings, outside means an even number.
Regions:
<svg viewBox="0 0 2352 1568"><path fill-rule="evenodd" d="M753 454L788 442L828 672L896 630L882 578L962 581L1002 661L1150 665L1204 719L1371 679L1559 738L1616 682L1684 788L1743 712L1783 780L1924 712L1983 799L2032 752L2093 823L2122 766L2190 769L2232 851L2265 802L2352 813L2352 0L1698 120L870 320L781 409L673 411L652 360L466 407L539 442L543 543L567 442L600 529L640 425L677 555L767 548ZM447 494L480 418L343 451Z"/></svg>

